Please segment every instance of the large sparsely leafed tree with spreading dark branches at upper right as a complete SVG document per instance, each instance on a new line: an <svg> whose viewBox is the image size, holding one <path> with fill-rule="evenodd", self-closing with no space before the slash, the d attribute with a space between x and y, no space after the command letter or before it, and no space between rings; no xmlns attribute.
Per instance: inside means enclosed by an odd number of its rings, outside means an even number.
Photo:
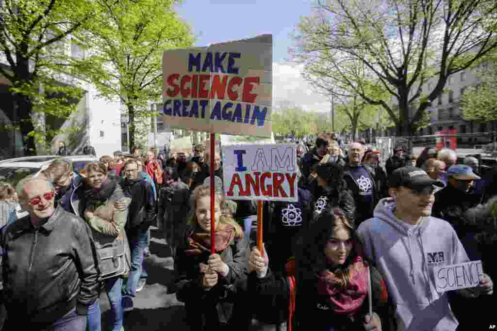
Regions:
<svg viewBox="0 0 497 331"><path fill-rule="evenodd" d="M298 25L294 60L325 64L349 91L383 107L398 135L414 134L447 78L497 46L494 0L318 0L316 12ZM365 75L350 73L357 63ZM423 94L428 80L434 86ZM365 81L390 98L368 94Z"/></svg>

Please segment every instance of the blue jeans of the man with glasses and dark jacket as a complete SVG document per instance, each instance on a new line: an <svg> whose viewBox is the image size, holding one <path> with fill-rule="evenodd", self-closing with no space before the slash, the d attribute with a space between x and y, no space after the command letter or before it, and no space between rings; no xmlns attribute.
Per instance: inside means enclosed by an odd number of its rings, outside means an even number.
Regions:
<svg viewBox="0 0 497 331"><path fill-rule="evenodd" d="M149 232L137 232L128 235L129 249L131 251L131 271L128 275L128 282L124 288L126 295L136 296L136 287L140 278L147 278L147 272L142 273L143 268L143 250L148 246Z"/></svg>

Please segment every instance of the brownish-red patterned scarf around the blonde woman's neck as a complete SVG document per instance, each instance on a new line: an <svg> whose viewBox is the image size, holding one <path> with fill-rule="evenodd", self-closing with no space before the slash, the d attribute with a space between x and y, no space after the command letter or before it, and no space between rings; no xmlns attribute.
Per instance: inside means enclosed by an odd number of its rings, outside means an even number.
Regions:
<svg viewBox="0 0 497 331"><path fill-rule="evenodd" d="M223 252L235 239L235 228L232 225L218 223L216 227L216 253ZM211 234L192 231L187 239L186 255L200 255L211 251Z"/></svg>

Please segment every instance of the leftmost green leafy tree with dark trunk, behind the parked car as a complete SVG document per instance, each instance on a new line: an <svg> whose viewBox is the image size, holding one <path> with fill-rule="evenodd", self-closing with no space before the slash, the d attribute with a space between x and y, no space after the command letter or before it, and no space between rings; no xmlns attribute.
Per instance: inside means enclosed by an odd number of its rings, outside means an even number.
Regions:
<svg viewBox="0 0 497 331"><path fill-rule="evenodd" d="M94 15L92 0L0 1L0 55L8 65L0 66L0 74L10 85L11 122L25 139L27 155L36 154L47 132L56 133L33 119L67 118L83 95L67 75L65 45Z"/></svg>

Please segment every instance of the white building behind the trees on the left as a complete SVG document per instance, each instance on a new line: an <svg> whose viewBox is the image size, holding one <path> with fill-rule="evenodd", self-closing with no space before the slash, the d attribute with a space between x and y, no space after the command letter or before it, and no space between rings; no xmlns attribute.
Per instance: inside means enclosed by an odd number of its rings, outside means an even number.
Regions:
<svg viewBox="0 0 497 331"><path fill-rule="evenodd" d="M65 55L82 58L85 52L72 37L59 42L58 52ZM3 53L0 53L0 65L9 70ZM48 148L37 148L38 154L54 154L57 152L59 141L65 141L71 154L82 153L87 144L93 146L97 156L112 155L121 149L121 105L119 102L98 97L98 91L87 81L75 79L68 75L59 76L61 84L78 84L85 91L83 97L77 101L76 110L67 119L39 114L33 116L36 125L45 130ZM0 75L0 125L3 128L12 128L14 119L13 100L9 89L9 82ZM40 86L43 89L43 86ZM50 130L66 130L64 133L52 136ZM70 130L72 129L72 130ZM75 130L76 129L76 130ZM23 139L20 132L14 130L0 130L0 158L19 157L24 155Z"/></svg>

